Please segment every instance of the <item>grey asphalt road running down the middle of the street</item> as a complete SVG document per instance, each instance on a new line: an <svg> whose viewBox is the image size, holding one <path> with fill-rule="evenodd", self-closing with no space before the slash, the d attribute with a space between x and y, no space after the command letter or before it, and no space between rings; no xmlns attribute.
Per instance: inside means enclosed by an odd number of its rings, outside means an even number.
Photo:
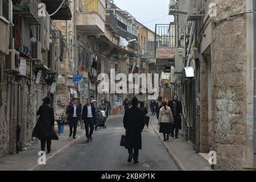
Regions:
<svg viewBox="0 0 256 182"><path fill-rule="evenodd" d="M93 141L86 137L64 154L47 164L44 171L176 171L175 163L165 150L152 128L142 133L142 150L139 164L127 163L128 152L119 146L125 134L122 117L114 116L106 121L106 129L94 131Z"/></svg>

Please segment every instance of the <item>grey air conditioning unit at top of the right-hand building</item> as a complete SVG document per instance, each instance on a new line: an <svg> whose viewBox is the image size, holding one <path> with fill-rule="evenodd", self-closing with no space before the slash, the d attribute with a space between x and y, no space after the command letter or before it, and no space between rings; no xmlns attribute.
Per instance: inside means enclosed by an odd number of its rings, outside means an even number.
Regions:
<svg viewBox="0 0 256 182"><path fill-rule="evenodd" d="M199 0L188 1L188 20L195 21L203 18L204 15L199 12Z"/></svg>

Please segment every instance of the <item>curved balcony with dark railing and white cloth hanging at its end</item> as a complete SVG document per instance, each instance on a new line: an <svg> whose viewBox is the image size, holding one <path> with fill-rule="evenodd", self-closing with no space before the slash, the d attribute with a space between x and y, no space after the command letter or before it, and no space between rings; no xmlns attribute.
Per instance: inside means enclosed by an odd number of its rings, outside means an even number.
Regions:
<svg viewBox="0 0 256 182"><path fill-rule="evenodd" d="M138 48L138 37L127 32L127 25L115 18L115 15L110 10L108 10L106 14L106 26L111 27L114 30L115 34L121 36L122 38L125 38L128 41L134 39L137 40L130 42L128 47L133 49Z"/></svg>

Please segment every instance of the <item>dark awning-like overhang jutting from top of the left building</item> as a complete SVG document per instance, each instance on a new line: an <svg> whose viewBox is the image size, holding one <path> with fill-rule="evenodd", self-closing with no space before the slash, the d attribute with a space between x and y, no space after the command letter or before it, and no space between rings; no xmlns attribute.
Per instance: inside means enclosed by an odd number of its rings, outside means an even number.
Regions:
<svg viewBox="0 0 256 182"><path fill-rule="evenodd" d="M48 14L53 14L61 5L63 0L42 0L42 2L46 4ZM63 3L59 11L51 16L51 19L53 20L71 20L71 18L71 7L68 0Z"/></svg>

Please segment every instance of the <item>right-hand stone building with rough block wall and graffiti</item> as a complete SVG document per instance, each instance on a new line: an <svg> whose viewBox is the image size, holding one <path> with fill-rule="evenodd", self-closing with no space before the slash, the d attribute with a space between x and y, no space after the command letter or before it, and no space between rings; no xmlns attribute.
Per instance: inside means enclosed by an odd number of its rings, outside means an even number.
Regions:
<svg viewBox="0 0 256 182"><path fill-rule="evenodd" d="M175 54L175 93L184 106L184 135L197 152L217 152L214 169L256 168L255 4L250 0L170 3L170 14L183 30ZM193 76L178 70L179 63Z"/></svg>

